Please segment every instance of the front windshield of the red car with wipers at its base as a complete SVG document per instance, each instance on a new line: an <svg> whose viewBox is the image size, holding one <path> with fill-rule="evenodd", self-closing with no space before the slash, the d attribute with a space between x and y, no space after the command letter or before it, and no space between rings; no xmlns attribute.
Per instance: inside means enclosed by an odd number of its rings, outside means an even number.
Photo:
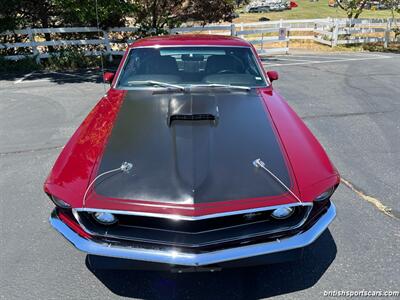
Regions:
<svg viewBox="0 0 400 300"><path fill-rule="evenodd" d="M130 50L117 88L265 85L250 48L165 47Z"/></svg>

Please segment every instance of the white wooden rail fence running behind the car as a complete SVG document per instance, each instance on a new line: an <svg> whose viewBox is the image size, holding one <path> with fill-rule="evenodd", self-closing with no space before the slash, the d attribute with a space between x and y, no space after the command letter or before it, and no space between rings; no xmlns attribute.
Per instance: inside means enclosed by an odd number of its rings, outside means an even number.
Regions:
<svg viewBox="0 0 400 300"><path fill-rule="evenodd" d="M341 44L384 42L385 46L394 41L391 31L400 20L392 19L306 19L279 20L257 23L236 23L228 25L206 25L180 27L170 30L170 34L207 33L240 36L251 42L261 54L288 53L291 41L313 41L331 47ZM13 32L2 32L0 36L18 36L23 42L0 43L1 49L17 49L21 54L6 56L17 60L25 56L36 56L38 62L57 52L48 52L48 47L77 46L86 55L122 55L127 45L134 41L135 27L98 30L95 27L68 28L27 28ZM54 40L45 41L43 35L52 34ZM63 38L64 34L87 34L85 39ZM125 34L127 37L119 38ZM93 38L95 35L95 38ZM90 37L92 36L92 37ZM117 37L116 37L117 36ZM397 42L399 38L397 38ZM21 48L24 48L21 51ZM111 57L111 56L110 56Z"/></svg>

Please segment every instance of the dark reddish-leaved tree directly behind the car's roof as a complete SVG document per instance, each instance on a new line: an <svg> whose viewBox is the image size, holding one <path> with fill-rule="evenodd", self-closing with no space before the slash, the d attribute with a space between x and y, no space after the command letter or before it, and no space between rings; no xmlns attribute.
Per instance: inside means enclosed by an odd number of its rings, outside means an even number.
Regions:
<svg viewBox="0 0 400 300"><path fill-rule="evenodd" d="M162 34L183 22L200 21L205 25L231 21L232 0L132 0L135 24L141 35Z"/></svg>

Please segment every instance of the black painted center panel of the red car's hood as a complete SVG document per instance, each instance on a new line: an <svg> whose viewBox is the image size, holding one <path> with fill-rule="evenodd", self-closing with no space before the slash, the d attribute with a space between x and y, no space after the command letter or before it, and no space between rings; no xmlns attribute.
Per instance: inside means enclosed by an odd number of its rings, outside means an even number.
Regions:
<svg viewBox="0 0 400 300"><path fill-rule="evenodd" d="M105 197L196 204L275 196L286 191L252 162L261 158L292 186L273 125L256 91L128 91L97 175Z"/></svg>

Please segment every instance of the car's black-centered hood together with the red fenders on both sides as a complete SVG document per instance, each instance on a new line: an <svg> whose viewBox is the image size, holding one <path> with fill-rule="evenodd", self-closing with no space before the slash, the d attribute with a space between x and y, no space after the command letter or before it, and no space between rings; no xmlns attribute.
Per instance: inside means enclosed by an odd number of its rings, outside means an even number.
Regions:
<svg viewBox="0 0 400 300"><path fill-rule="evenodd" d="M45 191L74 208L187 216L296 202L253 166L258 158L303 202L339 182L324 149L272 88L111 89L65 145ZM130 173L104 174L125 161Z"/></svg>

